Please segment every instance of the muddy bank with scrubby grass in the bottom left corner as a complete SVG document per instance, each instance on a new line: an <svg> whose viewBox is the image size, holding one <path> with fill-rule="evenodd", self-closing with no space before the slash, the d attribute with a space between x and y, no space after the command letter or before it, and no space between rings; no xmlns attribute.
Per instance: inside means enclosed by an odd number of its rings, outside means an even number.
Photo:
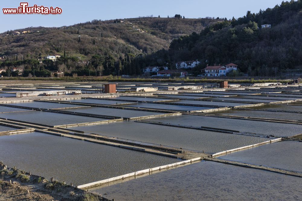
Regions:
<svg viewBox="0 0 302 201"><path fill-rule="evenodd" d="M67 185L64 182L48 181L44 177L32 175L16 168L6 168L2 162L0 162L0 176L0 201L109 201L101 196Z"/></svg>

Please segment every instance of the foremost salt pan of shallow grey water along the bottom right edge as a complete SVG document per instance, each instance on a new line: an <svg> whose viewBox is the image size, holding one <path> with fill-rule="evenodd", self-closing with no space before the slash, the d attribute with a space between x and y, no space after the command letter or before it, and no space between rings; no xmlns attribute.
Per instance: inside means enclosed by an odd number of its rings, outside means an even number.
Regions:
<svg viewBox="0 0 302 201"><path fill-rule="evenodd" d="M301 200L301 185L298 177L202 161L92 192L118 201Z"/></svg>

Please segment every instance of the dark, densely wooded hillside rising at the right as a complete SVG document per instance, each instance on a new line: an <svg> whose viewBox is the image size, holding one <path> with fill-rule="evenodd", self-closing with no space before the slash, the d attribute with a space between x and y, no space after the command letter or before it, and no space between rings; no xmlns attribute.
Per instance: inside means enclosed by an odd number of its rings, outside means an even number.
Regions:
<svg viewBox="0 0 302 201"><path fill-rule="evenodd" d="M257 14L248 11L244 17L223 20L173 40L165 58L172 63L198 58L201 68L232 62L251 75L278 75L302 64L301 9L300 0L282 2ZM261 29L262 24L271 28Z"/></svg>

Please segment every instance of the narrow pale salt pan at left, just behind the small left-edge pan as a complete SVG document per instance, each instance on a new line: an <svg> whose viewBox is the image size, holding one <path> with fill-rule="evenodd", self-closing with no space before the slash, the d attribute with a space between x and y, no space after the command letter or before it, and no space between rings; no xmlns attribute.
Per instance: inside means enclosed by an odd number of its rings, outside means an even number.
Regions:
<svg viewBox="0 0 302 201"><path fill-rule="evenodd" d="M51 103L51 102L39 102L39 101L27 101L27 102L17 102L17 103L7 103L8 105L18 105L25 107L33 107L33 108L44 108L44 109L52 109L52 108L69 108L69 107L79 107L81 105L72 105L72 104L61 104L61 103Z"/></svg>

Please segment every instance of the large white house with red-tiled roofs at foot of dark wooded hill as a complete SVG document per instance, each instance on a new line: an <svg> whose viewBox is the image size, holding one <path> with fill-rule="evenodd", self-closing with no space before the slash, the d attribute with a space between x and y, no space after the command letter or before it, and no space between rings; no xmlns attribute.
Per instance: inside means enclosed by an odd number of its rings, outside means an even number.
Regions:
<svg viewBox="0 0 302 201"><path fill-rule="evenodd" d="M220 64L218 66L209 66L207 65L206 68L203 69L204 76L208 77L218 77L218 76L225 76L230 71L237 71L237 65L230 63L225 66L221 66Z"/></svg>

